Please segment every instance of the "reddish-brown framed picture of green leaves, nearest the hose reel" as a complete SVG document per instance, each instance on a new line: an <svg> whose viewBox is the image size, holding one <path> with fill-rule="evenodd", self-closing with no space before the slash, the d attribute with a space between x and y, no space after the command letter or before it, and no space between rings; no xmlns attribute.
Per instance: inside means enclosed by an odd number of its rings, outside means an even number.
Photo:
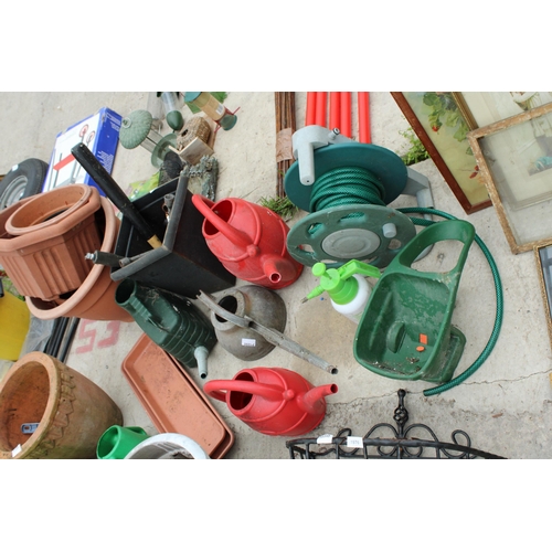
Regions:
<svg viewBox="0 0 552 552"><path fill-rule="evenodd" d="M463 114L456 94L391 93L464 211L471 214L492 203L466 139L467 132L476 126Z"/></svg>

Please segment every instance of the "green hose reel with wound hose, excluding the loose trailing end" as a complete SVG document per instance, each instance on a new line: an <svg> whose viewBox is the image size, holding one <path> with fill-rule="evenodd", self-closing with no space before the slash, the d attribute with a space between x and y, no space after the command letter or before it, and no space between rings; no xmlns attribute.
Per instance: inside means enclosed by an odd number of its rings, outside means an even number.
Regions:
<svg viewBox="0 0 552 552"><path fill-rule="evenodd" d="M301 146L294 149L300 153ZM301 182L300 158L284 181L290 201L310 212L290 229L289 254L306 266L339 267L352 259L388 266L416 230L408 216L386 205L402 193L422 193L424 206L433 206L427 179L393 151L370 144L328 144L310 155L314 178L308 181L314 182Z"/></svg>

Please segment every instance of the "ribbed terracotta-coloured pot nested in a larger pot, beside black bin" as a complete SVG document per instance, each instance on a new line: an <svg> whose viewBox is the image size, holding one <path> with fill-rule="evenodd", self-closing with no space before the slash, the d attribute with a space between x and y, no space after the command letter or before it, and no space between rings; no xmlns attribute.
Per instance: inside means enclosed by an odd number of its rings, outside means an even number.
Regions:
<svg viewBox="0 0 552 552"><path fill-rule="evenodd" d="M18 291L51 300L78 288L93 266L85 254L102 242L96 188L66 185L12 206L0 215L0 264Z"/></svg>

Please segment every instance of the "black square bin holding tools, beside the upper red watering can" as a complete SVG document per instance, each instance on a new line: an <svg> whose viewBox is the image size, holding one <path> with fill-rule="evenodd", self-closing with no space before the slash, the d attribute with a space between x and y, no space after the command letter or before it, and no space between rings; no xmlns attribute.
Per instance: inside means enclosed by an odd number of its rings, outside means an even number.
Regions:
<svg viewBox="0 0 552 552"><path fill-rule="evenodd" d="M235 276L208 247L201 232L204 219L193 205L191 192L178 182L173 179L132 202L162 241L161 247L151 248L123 216L115 254L139 257L126 266L113 267L112 279L130 278L190 298L195 298L200 289L214 293L232 287ZM163 209L168 194L174 194L169 217Z"/></svg>

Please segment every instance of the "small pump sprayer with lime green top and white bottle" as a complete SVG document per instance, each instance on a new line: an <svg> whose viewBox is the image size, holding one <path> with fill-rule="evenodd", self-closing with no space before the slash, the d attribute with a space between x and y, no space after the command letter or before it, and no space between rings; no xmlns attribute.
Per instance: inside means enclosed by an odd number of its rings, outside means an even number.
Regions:
<svg viewBox="0 0 552 552"><path fill-rule="evenodd" d="M372 290L365 276L379 278L379 268L357 259L347 262L339 268L327 268L323 263L312 266L312 274L320 278L320 285L302 299L305 302L328 293L332 307L354 323L359 323Z"/></svg>

